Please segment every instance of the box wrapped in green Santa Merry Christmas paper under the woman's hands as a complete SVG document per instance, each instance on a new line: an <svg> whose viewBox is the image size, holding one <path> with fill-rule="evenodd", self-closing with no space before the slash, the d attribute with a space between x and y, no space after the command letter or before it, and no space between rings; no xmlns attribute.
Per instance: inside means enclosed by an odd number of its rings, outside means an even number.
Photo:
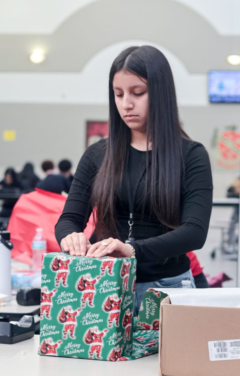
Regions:
<svg viewBox="0 0 240 376"><path fill-rule="evenodd" d="M132 258L43 255L38 353L109 361L130 356L136 265Z"/></svg>

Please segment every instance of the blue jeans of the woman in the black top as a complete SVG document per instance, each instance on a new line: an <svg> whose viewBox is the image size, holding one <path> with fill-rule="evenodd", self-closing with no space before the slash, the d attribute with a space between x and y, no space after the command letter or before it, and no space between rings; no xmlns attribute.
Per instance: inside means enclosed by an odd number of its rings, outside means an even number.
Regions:
<svg viewBox="0 0 240 376"><path fill-rule="evenodd" d="M191 286L196 288L191 269L176 277L163 278L153 282L139 282L135 285L134 316L138 315L143 296L149 288L181 288L182 280L190 280Z"/></svg>

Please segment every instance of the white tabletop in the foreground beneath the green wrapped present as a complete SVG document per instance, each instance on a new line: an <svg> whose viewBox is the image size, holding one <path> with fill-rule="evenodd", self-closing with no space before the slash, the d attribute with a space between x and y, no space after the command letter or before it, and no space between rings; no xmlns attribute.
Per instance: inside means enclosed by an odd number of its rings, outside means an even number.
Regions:
<svg viewBox="0 0 240 376"><path fill-rule="evenodd" d="M100 360L63 358L59 356L38 355L39 335L30 340L18 342L12 345L0 344L1 375L43 376L48 374L79 376L96 375L112 376L158 376L158 354L144 358L107 362ZM21 355L25 351L25 355ZM49 373L50 372L50 373Z"/></svg>

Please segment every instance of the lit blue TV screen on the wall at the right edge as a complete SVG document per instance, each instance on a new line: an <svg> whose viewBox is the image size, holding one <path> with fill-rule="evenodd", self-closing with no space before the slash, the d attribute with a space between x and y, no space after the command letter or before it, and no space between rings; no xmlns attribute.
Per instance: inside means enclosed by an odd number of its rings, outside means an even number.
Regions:
<svg viewBox="0 0 240 376"><path fill-rule="evenodd" d="M208 95L211 103L240 103L240 71L210 71Z"/></svg>

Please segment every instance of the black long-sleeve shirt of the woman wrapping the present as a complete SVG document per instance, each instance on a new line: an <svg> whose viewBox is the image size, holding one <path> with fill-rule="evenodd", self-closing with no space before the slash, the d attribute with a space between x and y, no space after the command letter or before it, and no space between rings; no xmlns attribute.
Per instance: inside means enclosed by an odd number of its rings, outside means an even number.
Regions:
<svg viewBox="0 0 240 376"><path fill-rule="evenodd" d="M91 185L105 155L105 140L88 147L82 156L64 206L55 227L60 244L62 238L76 231L82 232L91 213L89 207ZM151 152L150 152L151 153ZM213 183L208 153L202 144L183 139L184 185L181 186L181 227L163 234L163 227L155 215L150 214L147 200L144 215L142 203L144 175L138 184L134 205L134 241L137 258L137 282L149 282L177 276L190 268L186 252L201 249L205 243L212 209ZM129 150L131 191L146 165L146 152ZM129 200L126 174L123 175L119 197L116 197L116 223L123 242L129 233ZM167 261L166 261L167 259Z"/></svg>

